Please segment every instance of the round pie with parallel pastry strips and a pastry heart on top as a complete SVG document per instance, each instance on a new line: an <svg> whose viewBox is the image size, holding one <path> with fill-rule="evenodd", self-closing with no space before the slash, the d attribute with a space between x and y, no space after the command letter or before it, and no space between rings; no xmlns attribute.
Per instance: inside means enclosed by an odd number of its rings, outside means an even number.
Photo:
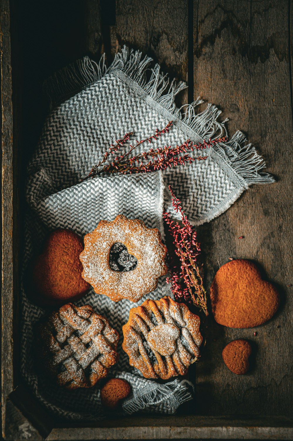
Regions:
<svg viewBox="0 0 293 441"><path fill-rule="evenodd" d="M130 366L146 378L185 375L199 357L200 319L183 303L171 297L146 300L132 308L123 326L122 349L129 355Z"/></svg>

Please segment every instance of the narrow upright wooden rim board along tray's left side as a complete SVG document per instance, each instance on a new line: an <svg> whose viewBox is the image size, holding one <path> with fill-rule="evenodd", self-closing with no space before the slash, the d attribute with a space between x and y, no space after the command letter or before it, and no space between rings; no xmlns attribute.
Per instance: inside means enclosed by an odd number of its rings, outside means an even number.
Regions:
<svg viewBox="0 0 293 441"><path fill-rule="evenodd" d="M10 14L8 0L0 2L1 111L2 111L2 433L6 397L13 389L13 135Z"/></svg>

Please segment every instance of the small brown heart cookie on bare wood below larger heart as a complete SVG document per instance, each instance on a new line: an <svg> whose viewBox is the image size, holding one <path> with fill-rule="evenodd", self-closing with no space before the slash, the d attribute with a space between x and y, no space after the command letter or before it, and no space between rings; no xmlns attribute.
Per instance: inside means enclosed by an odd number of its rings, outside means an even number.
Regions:
<svg viewBox="0 0 293 441"><path fill-rule="evenodd" d="M227 368L237 375L246 374L249 369L248 357L251 355L251 345L246 340L234 340L227 344L222 357Z"/></svg>

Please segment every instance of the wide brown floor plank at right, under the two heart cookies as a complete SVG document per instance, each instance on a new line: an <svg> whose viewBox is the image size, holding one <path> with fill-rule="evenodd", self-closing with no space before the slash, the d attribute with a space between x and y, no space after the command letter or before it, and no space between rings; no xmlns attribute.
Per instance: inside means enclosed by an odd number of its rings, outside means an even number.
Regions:
<svg viewBox="0 0 293 441"><path fill-rule="evenodd" d="M288 2L197 2L194 8L194 97L219 105L229 132L244 131L278 182L252 186L223 215L199 228L207 286L229 257L258 262L278 285L282 305L256 329L228 329L210 318L198 364L198 411L292 415L292 96ZM289 44L288 44L289 41ZM292 84L292 83L291 83ZM239 236L245 239L239 240ZM254 332L257 333L254 336ZM223 364L224 346L251 340L254 367L245 376Z"/></svg>

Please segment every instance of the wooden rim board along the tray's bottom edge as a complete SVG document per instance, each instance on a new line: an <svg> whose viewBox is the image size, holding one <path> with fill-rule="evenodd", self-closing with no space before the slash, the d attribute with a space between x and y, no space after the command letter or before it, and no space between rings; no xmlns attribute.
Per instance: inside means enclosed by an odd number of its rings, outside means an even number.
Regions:
<svg viewBox="0 0 293 441"><path fill-rule="evenodd" d="M105 439L291 439L292 422L285 419L221 417L127 418L100 427L54 429L48 441Z"/></svg>

